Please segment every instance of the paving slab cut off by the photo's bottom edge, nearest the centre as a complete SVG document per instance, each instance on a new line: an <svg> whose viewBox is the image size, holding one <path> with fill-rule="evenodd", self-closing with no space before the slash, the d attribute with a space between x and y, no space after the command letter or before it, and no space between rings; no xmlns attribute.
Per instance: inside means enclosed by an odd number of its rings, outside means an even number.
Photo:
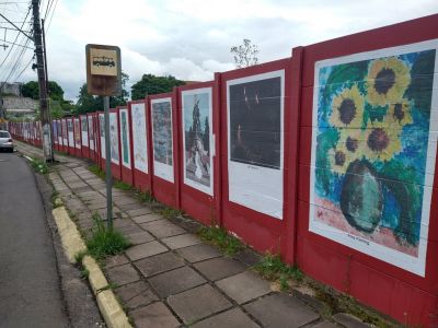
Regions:
<svg viewBox="0 0 438 328"><path fill-rule="evenodd" d="M240 308L232 308L214 317L199 321L192 328L257 328L257 324L252 321Z"/></svg>

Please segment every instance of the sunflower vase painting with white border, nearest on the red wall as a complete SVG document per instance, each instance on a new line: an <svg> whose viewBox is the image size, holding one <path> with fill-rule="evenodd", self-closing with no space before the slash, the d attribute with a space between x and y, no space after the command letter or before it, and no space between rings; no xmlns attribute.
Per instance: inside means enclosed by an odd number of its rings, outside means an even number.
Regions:
<svg viewBox="0 0 438 328"><path fill-rule="evenodd" d="M309 230L419 276L437 147L437 44L315 63Z"/></svg>

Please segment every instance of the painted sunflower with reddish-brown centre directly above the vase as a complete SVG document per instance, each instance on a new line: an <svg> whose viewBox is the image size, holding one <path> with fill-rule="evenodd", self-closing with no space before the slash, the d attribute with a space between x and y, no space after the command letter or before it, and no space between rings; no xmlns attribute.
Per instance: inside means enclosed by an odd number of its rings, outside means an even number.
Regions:
<svg viewBox="0 0 438 328"><path fill-rule="evenodd" d="M391 121L369 122L365 131L364 155L370 161L390 161L402 151L401 129L394 129Z"/></svg>

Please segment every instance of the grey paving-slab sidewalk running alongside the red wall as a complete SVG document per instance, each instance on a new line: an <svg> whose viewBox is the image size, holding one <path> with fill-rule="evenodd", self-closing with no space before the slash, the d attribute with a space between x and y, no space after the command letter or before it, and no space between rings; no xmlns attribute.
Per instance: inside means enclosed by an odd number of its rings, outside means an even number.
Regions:
<svg viewBox="0 0 438 328"><path fill-rule="evenodd" d="M16 142L16 148L42 156L32 145ZM105 218L105 184L87 168L89 162L57 159L61 163L49 178L87 231L93 212ZM197 238L191 229L196 223L175 224L130 191L113 188L113 202L114 225L134 246L107 259L104 270L136 327L368 327L348 315L337 316L337 324L324 320L301 300L275 291L250 270L256 257L224 256Z"/></svg>

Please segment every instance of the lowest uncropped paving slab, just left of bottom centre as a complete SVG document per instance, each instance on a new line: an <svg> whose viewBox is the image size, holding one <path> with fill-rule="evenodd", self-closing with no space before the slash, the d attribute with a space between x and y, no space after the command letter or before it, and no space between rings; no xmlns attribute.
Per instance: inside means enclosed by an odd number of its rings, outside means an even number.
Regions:
<svg viewBox="0 0 438 328"><path fill-rule="evenodd" d="M169 296L168 304L185 324L197 321L232 306L209 284Z"/></svg>

